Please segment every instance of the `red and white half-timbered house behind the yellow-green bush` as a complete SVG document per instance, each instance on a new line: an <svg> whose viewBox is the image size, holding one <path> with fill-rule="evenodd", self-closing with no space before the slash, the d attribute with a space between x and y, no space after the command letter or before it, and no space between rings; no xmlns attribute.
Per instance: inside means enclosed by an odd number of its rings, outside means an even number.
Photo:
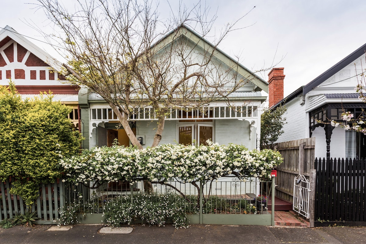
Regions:
<svg viewBox="0 0 366 244"><path fill-rule="evenodd" d="M78 87L68 84L60 69L57 60L10 26L0 30L0 85L11 79L23 98L52 91L54 101L72 107L69 118L78 128Z"/></svg>

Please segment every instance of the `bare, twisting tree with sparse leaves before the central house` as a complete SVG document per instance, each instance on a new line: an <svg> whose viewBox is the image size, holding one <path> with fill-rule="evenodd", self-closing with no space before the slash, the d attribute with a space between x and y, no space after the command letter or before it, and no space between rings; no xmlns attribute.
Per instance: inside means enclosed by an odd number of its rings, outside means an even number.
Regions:
<svg viewBox="0 0 366 244"><path fill-rule="evenodd" d="M61 30L49 38L66 53L68 63L63 67L68 80L100 94L132 144L140 148L129 126L134 111L147 106L154 111L154 147L171 108L197 109L223 98L229 102L229 94L256 78L250 72L238 77L238 62L223 64L217 59L217 45L238 21L208 43L205 37L216 15L208 19L208 8L201 3L191 10L180 4L178 14L161 20L158 5L150 0L78 1L72 12L57 0L38 2Z"/></svg>

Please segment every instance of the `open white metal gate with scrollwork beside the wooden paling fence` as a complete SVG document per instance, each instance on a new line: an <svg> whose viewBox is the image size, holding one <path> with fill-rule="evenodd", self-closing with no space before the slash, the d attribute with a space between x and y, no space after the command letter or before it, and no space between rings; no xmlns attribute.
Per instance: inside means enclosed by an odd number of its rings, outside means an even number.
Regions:
<svg viewBox="0 0 366 244"><path fill-rule="evenodd" d="M303 174L294 179L294 203L292 209L309 218L310 182Z"/></svg>

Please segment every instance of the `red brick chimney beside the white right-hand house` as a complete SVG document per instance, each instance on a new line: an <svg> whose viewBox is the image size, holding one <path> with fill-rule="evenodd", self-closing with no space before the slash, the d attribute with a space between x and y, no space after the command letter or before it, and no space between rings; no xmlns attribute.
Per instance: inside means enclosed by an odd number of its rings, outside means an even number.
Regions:
<svg viewBox="0 0 366 244"><path fill-rule="evenodd" d="M272 108L272 106L283 99L283 79L285 78L283 69L284 68L273 68L268 73L269 108Z"/></svg>

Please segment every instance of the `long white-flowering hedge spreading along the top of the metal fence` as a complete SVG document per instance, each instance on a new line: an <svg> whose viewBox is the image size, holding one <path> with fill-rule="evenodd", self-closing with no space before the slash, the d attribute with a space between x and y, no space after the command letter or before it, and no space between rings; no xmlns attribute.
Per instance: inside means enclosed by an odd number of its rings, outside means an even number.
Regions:
<svg viewBox="0 0 366 244"><path fill-rule="evenodd" d="M208 146L163 144L153 148L96 147L79 156L62 158L60 165L66 180L94 183L135 182L139 177L152 182L179 179L185 182L237 177L268 180L271 170L283 158L273 150L248 150L236 144L228 146L209 142ZM140 178L141 179L141 178Z"/></svg>

